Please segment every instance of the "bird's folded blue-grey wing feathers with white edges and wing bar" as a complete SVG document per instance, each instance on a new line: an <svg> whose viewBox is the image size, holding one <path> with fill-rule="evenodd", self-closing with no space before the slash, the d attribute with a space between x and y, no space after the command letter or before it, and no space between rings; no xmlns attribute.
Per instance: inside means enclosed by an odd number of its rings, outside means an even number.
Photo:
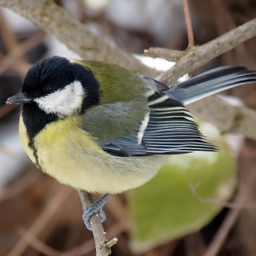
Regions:
<svg viewBox="0 0 256 256"><path fill-rule="evenodd" d="M142 121L138 131L131 136L101 144L104 150L122 157L218 150L199 132L197 123L182 103L158 90L166 90L162 84L156 85L155 80L145 81L149 91L145 94L149 107L146 123Z"/></svg>

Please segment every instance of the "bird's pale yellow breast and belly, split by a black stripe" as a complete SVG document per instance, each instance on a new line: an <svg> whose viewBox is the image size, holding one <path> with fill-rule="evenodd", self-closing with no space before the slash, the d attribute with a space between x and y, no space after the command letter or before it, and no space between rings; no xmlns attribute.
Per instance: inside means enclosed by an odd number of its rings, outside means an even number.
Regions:
<svg viewBox="0 0 256 256"><path fill-rule="evenodd" d="M80 122L78 115L49 123L28 145L20 118L20 137L27 155L60 183L91 192L121 193L151 179L165 161L165 156L109 155L80 128Z"/></svg>

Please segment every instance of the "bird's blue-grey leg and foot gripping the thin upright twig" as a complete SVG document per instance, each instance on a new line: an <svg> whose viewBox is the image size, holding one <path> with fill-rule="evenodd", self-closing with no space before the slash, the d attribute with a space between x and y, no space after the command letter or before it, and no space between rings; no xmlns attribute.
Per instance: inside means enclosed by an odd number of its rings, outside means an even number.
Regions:
<svg viewBox="0 0 256 256"><path fill-rule="evenodd" d="M98 201L93 202L90 206L85 208L85 210L83 212L83 215L82 215L82 219L83 219L84 224L85 224L87 229L91 230L90 219L91 219L91 216L93 214L99 212L101 222L103 222L106 219L106 215L105 215L102 207L104 206L108 197L110 197L110 196L111 196L111 194L106 194L105 196L101 197L101 199L99 199Z"/></svg>

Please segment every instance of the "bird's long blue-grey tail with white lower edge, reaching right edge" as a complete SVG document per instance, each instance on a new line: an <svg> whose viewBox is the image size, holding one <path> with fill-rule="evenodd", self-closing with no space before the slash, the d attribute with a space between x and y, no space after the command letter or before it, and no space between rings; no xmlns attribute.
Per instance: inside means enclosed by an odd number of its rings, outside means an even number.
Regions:
<svg viewBox="0 0 256 256"><path fill-rule="evenodd" d="M245 83L256 82L256 72L244 67L225 66L208 70L190 80L172 86L165 93L184 105L219 91Z"/></svg>

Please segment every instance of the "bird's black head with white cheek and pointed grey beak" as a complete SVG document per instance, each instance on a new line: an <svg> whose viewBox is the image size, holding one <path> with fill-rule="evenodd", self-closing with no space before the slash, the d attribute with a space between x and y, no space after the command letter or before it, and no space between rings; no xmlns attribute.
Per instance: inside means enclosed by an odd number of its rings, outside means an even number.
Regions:
<svg viewBox="0 0 256 256"><path fill-rule="evenodd" d="M27 71L22 91L9 104L32 104L60 118L99 103L99 85L91 69L62 57L37 62Z"/></svg>

